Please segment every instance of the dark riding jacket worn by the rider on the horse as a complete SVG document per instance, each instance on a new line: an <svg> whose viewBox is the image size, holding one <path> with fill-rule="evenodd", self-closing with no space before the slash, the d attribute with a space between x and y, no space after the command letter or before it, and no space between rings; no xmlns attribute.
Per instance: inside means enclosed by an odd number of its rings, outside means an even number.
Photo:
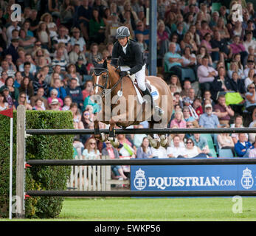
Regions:
<svg viewBox="0 0 256 236"><path fill-rule="evenodd" d="M119 65L117 58L120 58ZM131 68L130 74L139 72L142 69L142 66L145 65L145 59L139 44L137 44L136 41L129 39L125 53L118 41L114 43L111 64L114 66L129 66Z"/></svg>

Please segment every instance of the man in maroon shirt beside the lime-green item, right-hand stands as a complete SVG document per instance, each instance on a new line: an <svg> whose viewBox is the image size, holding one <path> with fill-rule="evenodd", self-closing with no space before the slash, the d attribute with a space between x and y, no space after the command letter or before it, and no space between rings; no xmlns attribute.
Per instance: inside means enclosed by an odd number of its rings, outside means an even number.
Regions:
<svg viewBox="0 0 256 236"><path fill-rule="evenodd" d="M229 105L226 105L226 97L224 94L218 96L218 104L213 107L213 111L218 117L220 124L229 127L229 121L235 115L235 112Z"/></svg>

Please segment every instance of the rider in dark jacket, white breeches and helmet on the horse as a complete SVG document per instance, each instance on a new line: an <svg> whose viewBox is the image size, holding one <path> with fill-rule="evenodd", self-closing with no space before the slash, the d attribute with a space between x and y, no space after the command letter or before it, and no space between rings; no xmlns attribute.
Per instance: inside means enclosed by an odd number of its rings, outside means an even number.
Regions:
<svg viewBox="0 0 256 236"><path fill-rule="evenodd" d="M114 44L112 51L111 64L117 66L117 58L120 58L120 76L125 77L127 75L135 74L136 81L139 89L142 90L142 94L149 95L151 97L151 104L155 111L162 115L161 108L156 106L151 95L151 91L145 86L145 60L143 58L142 50L136 41L129 39L130 31L128 27L117 28L116 38L118 42ZM146 96L147 97L147 96Z"/></svg>

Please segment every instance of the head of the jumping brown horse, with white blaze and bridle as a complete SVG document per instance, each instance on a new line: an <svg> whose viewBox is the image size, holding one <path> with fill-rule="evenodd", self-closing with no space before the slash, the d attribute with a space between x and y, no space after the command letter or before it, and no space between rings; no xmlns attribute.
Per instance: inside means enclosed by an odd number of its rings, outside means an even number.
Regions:
<svg viewBox="0 0 256 236"><path fill-rule="evenodd" d="M94 83L95 95L105 95L105 89L111 89L111 84L115 83L115 80L119 78L117 69L113 70L113 67L114 66L111 66L108 63L107 59L105 59L103 63L94 61L94 74L92 80ZM112 82L112 80L114 81Z"/></svg>

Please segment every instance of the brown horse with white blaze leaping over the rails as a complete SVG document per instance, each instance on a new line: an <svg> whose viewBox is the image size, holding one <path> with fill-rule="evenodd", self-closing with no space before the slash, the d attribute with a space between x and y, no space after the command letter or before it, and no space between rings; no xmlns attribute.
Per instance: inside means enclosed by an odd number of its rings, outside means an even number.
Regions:
<svg viewBox="0 0 256 236"><path fill-rule="evenodd" d="M146 80L159 92L155 100L162 108L162 117L154 114L151 103L139 103L136 89L130 77L120 77L120 70L105 60L103 64L94 64L94 95L101 99L101 111L94 118L95 137L105 141L100 134L99 121L109 124L109 137L114 146L119 145L114 141L114 128L120 126L127 128L130 125L139 125L148 120L149 128L166 128L173 111L173 97L169 86L161 77L148 76ZM161 142L148 135L152 147L158 148L167 145L165 135L161 136Z"/></svg>

